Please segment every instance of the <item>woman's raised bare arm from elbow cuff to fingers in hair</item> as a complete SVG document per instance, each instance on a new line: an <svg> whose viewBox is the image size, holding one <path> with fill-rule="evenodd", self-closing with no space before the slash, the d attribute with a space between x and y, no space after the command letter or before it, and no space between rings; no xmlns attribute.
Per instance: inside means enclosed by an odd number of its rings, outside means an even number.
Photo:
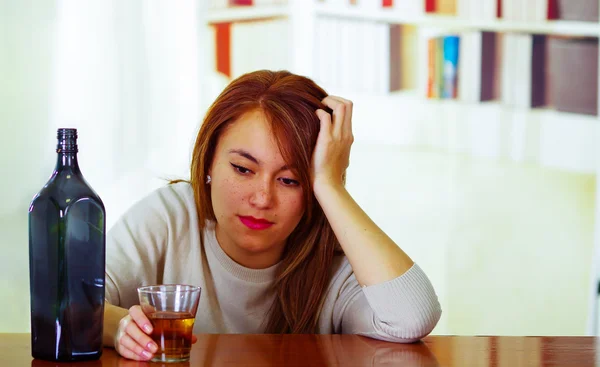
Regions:
<svg viewBox="0 0 600 367"><path fill-rule="evenodd" d="M404 274L411 258L369 218L345 189L343 176L352 145L352 102L328 96L333 120L317 110L321 130L313 153L313 190L360 285L380 284Z"/></svg>

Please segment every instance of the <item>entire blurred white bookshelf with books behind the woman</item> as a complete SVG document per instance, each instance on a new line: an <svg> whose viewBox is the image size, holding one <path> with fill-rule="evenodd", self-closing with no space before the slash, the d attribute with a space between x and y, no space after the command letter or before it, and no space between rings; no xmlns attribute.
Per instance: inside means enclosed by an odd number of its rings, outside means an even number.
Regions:
<svg viewBox="0 0 600 367"><path fill-rule="evenodd" d="M221 86L288 69L355 102L356 142L600 173L600 0L209 3Z"/></svg>

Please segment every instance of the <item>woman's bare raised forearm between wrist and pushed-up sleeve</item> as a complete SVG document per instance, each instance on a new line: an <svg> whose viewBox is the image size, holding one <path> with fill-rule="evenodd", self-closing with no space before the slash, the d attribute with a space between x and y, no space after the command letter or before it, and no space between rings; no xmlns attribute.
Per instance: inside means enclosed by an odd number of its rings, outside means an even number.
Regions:
<svg viewBox="0 0 600 367"><path fill-rule="evenodd" d="M361 285L374 285L404 274L412 259L360 208L343 186L315 185L340 245Z"/></svg>

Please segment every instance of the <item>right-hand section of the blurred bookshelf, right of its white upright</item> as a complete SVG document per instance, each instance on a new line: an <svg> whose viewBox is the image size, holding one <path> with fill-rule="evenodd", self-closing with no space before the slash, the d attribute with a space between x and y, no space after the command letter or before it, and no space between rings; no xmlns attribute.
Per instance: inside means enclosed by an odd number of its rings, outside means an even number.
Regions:
<svg viewBox="0 0 600 367"><path fill-rule="evenodd" d="M509 6L520 8L501 16ZM542 0L315 1L315 33L342 46L314 38L313 76L360 101L357 121L367 111L410 111L395 129L364 126L369 140L596 174L600 23L560 19L552 6ZM350 40L354 49L345 49ZM318 61L324 59L341 72ZM373 78L379 85L368 82ZM431 84L439 93L431 93ZM448 84L451 91L444 92Z"/></svg>

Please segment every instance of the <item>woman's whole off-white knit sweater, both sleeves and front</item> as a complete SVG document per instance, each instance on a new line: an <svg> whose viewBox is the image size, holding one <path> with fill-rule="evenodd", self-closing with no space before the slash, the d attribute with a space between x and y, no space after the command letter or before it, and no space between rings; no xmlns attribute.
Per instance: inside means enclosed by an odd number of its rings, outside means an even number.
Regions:
<svg viewBox="0 0 600 367"><path fill-rule="evenodd" d="M258 270L239 265L221 249L214 223L199 232L196 213L187 183L160 188L128 210L107 235L107 301L129 308L138 304L139 286L198 285L202 292L194 333L262 333L277 265ZM332 266L319 333L412 342L438 322L440 304L418 265L364 288L345 256L337 256Z"/></svg>

